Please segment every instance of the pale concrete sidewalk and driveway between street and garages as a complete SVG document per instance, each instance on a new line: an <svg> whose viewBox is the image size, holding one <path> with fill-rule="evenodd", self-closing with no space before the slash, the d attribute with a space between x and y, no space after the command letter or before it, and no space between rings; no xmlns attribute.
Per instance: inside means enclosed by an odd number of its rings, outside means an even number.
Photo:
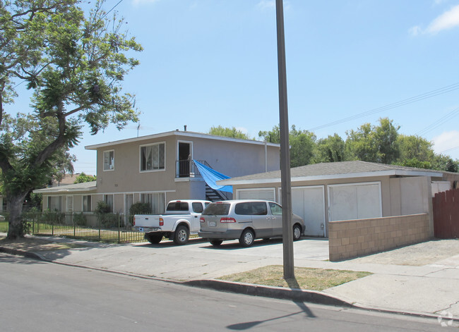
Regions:
<svg viewBox="0 0 459 332"><path fill-rule="evenodd" d="M0 233L0 238L6 234ZM435 240L344 262L328 262L328 241L294 242L295 266L369 271L371 276L322 292L222 283L215 278L261 266L282 265L282 242L237 242L213 247L201 239L110 245L56 237L28 237L24 243L0 243L0 251L48 262L160 278L200 287L292 300L353 305L366 309L439 317L459 326L459 240Z"/></svg>

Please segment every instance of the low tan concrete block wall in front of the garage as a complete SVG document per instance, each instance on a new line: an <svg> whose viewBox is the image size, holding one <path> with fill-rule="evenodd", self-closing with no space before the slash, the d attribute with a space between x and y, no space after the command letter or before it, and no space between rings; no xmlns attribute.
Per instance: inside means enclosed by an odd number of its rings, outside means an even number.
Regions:
<svg viewBox="0 0 459 332"><path fill-rule="evenodd" d="M330 221L328 225L331 262L383 252L431 238L428 214Z"/></svg>

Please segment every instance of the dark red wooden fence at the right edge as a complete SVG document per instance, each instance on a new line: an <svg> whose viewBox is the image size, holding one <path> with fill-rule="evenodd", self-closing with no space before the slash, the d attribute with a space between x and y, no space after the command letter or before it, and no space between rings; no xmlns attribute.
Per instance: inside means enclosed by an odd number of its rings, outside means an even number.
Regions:
<svg viewBox="0 0 459 332"><path fill-rule="evenodd" d="M434 204L434 233L436 238L459 238L459 189L439 192Z"/></svg>

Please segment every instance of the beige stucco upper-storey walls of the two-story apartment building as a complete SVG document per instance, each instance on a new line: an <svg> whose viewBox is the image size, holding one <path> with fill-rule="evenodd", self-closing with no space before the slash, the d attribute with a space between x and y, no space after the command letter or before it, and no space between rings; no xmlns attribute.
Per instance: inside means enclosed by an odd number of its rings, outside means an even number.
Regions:
<svg viewBox="0 0 459 332"><path fill-rule="evenodd" d="M174 190L180 198L196 193L185 190L189 183L179 183L176 179L178 142L193 142L193 159L205 160L212 168L227 176L243 176L265 171L265 146L225 140L205 140L199 137L172 135L150 140L113 145L97 149L97 192L154 192ZM140 171L140 147L151 143L165 142L165 169L160 171ZM104 151L114 150L114 170L103 170ZM279 148L267 147L268 171L279 169ZM203 184L202 184L203 185ZM202 187L201 185L201 187Z"/></svg>

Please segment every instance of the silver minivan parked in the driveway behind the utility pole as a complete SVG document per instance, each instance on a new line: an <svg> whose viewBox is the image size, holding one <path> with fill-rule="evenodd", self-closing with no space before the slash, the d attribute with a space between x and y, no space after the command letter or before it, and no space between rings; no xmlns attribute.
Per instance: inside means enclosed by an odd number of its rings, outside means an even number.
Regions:
<svg viewBox="0 0 459 332"><path fill-rule="evenodd" d="M223 240L239 239L244 247L254 244L258 238L282 236L282 207L278 203L238 199L208 204L201 214L201 230L198 235L207 238L212 245ZM299 240L306 227L301 217L293 214L293 240Z"/></svg>

